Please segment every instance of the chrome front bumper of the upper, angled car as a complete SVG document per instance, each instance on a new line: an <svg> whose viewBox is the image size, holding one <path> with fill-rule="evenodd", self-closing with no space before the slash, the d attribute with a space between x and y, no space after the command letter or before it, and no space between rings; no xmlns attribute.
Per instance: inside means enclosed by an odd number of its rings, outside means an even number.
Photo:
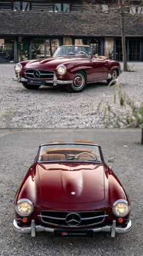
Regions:
<svg viewBox="0 0 143 256"><path fill-rule="evenodd" d="M22 83L25 82L27 83L27 79L25 79L24 77L13 77L12 80L14 82L18 82L18 83ZM46 84L53 84L53 85L67 85L67 84L72 84L73 80L58 80L56 76L53 77L53 80L45 80L45 85Z"/></svg>

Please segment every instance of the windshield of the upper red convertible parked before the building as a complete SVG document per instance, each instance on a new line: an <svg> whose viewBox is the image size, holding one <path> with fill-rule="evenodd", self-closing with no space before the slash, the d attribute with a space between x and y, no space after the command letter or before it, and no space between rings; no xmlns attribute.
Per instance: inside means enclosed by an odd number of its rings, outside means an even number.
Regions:
<svg viewBox="0 0 143 256"><path fill-rule="evenodd" d="M90 46L76 46L76 45L67 45L67 46L60 46L53 57L60 57L60 56L76 56L76 57L91 57L91 50Z"/></svg>

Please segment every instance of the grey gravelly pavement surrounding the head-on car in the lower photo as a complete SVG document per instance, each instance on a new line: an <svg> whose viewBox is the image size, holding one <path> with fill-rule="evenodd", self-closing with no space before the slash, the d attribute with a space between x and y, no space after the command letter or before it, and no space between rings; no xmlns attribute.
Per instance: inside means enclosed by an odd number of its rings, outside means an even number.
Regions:
<svg viewBox="0 0 143 256"><path fill-rule="evenodd" d="M36 238L13 230L13 197L39 144L48 140L90 140L101 144L105 161L115 157L113 170L131 199L133 230L127 235L98 233L93 240L62 240L48 233ZM142 256L143 252L143 150L141 130L119 129L1 129L0 255Z"/></svg>

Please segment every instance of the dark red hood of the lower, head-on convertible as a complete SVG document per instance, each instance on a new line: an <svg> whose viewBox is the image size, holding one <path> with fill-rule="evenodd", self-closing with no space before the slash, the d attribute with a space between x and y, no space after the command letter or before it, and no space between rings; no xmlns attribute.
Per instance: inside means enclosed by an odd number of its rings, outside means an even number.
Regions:
<svg viewBox="0 0 143 256"><path fill-rule="evenodd" d="M104 165L51 163L37 171L44 201L80 204L105 198Z"/></svg>

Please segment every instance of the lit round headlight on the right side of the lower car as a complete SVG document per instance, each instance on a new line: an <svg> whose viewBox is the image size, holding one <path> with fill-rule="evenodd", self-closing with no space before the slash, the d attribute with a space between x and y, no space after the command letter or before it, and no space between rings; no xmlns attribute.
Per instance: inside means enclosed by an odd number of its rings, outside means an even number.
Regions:
<svg viewBox="0 0 143 256"><path fill-rule="evenodd" d="M130 205L126 200L118 200L113 204L113 213L118 217L124 217L130 212Z"/></svg>

